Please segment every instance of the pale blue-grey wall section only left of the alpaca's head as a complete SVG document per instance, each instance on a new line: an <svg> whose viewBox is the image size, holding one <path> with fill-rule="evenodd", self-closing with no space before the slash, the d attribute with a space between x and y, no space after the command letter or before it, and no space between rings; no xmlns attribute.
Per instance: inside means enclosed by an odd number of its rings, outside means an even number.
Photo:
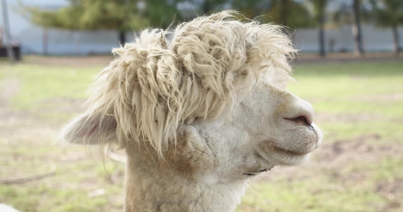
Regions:
<svg viewBox="0 0 403 212"><path fill-rule="evenodd" d="M57 9L69 4L67 0L23 0L23 4L38 6L43 9ZM18 0L7 0L10 32L15 43L20 43L23 51L42 54L44 29L25 20L19 13ZM3 25L2 14L1 23ZM49 54L88 54L91 52L109 53L118 47L116 31L68 31L48 29ZM127 33L127 40L133 39L134 33Z"/></svg>

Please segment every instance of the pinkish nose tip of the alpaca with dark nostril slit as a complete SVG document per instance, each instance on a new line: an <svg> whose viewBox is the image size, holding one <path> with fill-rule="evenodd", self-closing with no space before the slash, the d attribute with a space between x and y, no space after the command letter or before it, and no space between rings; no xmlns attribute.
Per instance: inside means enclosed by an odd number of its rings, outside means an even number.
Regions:
<svg viewBox="0 0 403 212"><path fill-rule="evenodd" d="M289 114L284 119L297 123L298 125L312 126L314 120L314 108L305 100L299 99L297 104L290 108Z"/></svg>

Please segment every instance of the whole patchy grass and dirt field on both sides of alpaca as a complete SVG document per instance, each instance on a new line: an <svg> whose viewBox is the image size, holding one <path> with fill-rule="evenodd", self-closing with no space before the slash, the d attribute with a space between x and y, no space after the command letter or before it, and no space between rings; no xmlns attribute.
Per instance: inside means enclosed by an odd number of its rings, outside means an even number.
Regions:
<svg viewBox="0 0 403 212"><path fill-rule="evenodd" d="M48 60L0 63L0 203L24 212L121 211L122 163L107 158L104 167L96 149L52 144L84 110L85 90L102 66ZM294 70L298 82L288 89L316 109L323 145L312 162L254 181L237 211L403 210L403 62Z"/></svg>

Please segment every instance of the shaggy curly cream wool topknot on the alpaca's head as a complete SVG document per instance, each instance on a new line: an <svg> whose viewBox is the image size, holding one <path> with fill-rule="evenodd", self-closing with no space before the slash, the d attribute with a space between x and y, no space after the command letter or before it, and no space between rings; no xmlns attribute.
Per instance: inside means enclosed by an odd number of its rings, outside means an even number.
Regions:
<svg viewBox="0 0 403 212"><path fill-rule="evenodd" d="M162 155L182 124L230 114L235 94L258 78L283 86L295 52L283 28L236 16L223 11L172 31L145 30L113 49L116 59L94 81L89 111L116 118L121 147L150 142Z"/></svg>

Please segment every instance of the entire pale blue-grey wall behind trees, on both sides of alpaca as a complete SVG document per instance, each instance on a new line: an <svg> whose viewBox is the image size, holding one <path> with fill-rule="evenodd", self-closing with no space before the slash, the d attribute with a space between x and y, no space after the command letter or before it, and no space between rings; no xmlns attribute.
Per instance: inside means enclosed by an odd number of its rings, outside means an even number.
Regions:
<svg viewBox="0 0 403 212"><path fill-rule="evenodd" d="M43 29L32 25L17 11L18 0L7 0L10 19L11 34L15 41L19 41L23 51L33 50L43 52ZM57 9L69 4L67 0L23 0L26 5L38 6L44 9ZM2 15L0 17L2 25ZM377 28L373 25L363 24L363 45L365 51L392 51L393 37L391 29ZM399 28L400 45L403 47L403 27ZM127 33L127 41L133 39L134 33ZM334 39L334 51L353 51L353 37L351 26L344 25L340 29L325 31L326 50L330 51L330 40ZM318 30L297 29L293 35L295 45L305 52L318 51ZM24 48L25 47L25 48ZM116 31L67 31L48 30L49 54L89 54L109 53L113 47L118 47L118 33Z"/></svg>

